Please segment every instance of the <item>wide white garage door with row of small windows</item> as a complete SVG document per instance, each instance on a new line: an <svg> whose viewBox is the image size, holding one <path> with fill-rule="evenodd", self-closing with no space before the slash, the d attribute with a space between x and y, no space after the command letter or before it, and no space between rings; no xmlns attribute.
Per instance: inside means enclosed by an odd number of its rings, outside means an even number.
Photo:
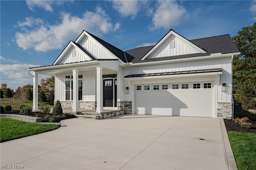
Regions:
<svg viewBox="0 0 256 170"><path fill-rule="evenodd" d="M213 117L211 82L135 86L135 113Z"/></svg>

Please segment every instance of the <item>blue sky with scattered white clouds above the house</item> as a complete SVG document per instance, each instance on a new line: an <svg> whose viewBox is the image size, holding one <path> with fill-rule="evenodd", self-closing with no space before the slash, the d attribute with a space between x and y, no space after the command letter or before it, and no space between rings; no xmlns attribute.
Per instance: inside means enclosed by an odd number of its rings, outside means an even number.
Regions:
<svg viewBox="0 0 256 170"><path fill-rule="evenodd" d="M170 29L187 39L237 35L256 22L256 1L0 1L1 83L32 84L86 30L124 51L154 45ZM39 80L44 77L39 75Z"/></svg>

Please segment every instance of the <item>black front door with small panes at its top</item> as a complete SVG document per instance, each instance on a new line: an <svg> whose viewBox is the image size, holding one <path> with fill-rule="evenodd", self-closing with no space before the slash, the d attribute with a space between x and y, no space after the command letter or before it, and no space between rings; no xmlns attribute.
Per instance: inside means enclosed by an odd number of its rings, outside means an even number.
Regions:
<svg viewBox="0 0 256 170"><path fill-rule="evenodd" d="M113 79L103 80L103 106L113 107Z"/></svg>

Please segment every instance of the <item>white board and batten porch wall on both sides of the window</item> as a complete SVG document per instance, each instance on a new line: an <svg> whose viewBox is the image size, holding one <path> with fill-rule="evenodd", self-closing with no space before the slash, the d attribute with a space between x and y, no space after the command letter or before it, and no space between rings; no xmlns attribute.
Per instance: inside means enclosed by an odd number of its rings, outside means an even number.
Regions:
<svg viewBox="0 0 256 170"><path fill-rule="evenodd" d="M83 75L82 82L82 92L83 92L83 101L96 101L96 71L84 71L79 72L79 75ZM55 77L55 98L56 100L65 101L66 100L66 76L72 76L72 72L70 74L58 74Z"/></svg>

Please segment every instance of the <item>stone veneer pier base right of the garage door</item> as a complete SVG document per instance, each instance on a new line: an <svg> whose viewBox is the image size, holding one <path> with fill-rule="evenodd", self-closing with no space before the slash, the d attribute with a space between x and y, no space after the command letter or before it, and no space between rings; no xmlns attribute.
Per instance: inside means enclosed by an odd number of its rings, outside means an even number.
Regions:
<svg viewBox="0 0 256 170"><path fill-rule="evenodd" d="M217 117L232 119L232 102L217 102Z"/></svg>

